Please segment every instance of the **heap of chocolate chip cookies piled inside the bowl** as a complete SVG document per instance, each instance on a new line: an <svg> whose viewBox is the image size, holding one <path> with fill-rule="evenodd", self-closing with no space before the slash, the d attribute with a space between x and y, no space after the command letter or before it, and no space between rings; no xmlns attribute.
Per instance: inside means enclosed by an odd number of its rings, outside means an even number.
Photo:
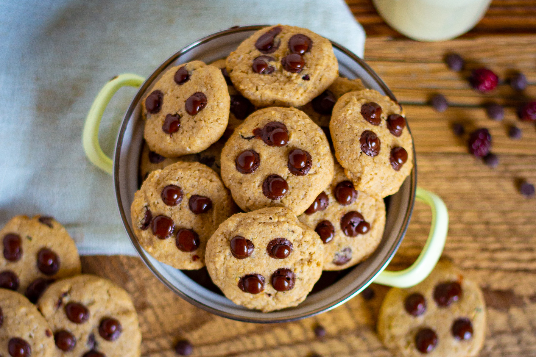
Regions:
<svg viewBox="0 0 536 357"><path fill-rule="evenodd" d="M172 67L142 106L140 245L177 269L206 265L226 297L263 312L367 259L383 198L413 168L398 103L339 77L331 42L304 28L267 27L226 59Z"/></svg>

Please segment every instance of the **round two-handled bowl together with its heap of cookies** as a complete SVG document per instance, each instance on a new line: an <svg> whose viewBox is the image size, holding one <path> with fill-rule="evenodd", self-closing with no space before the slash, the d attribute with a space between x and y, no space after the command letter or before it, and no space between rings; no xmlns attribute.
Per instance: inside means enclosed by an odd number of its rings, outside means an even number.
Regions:
<svg viewBox="0 0 536 357"><path fill-rule="evenodd" d="M139 90L111 159L98 131L123 86ZM362 59L305 28L230 28L147 79L118 75L95 98L83 142L113 175L147 267L220 316L319 314L371 282L418 284L443 250L448 214L416 186L403 108ZM410 268L385 271L416 199L433 212L427 243Z"/></svg>

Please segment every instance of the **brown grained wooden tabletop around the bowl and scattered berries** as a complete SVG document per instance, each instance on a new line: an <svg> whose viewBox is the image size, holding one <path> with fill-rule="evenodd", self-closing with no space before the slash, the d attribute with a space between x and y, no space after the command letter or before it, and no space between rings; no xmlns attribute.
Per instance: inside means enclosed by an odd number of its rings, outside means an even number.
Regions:
<svg viewBox="0 0 536 357"><path fill-rule="evenodd" d="M482 356L529 356L536 353L536 199L518 193L517 183L536 183L536 128L519 123L514 106L536 97L536 1L496 0L486 17L461 39L421 43L384 24L369 0L348 0L369 34L365 57L404 105L417 151L418 183L440 195L449 208L444 255L477 280L488 304L488 329ZM498 33L508 33L500 34ZM467 60L467 69L485 65L504 80L520 70L530 86L517 94L503 82L481 95L467 84L467 71L449 71L447 51ZM443 113L427 105L444 94ZM505 119L486 118L482 104L507 105ZM450 125L467 131L487 127L500 164L491 169L467 153L466 139ZM523 138L511 140L511 124ZM406 238L391 269L407 267L419 254L430 226L430 211L416 204ZM84 272L108 277L128 290L143 332L144 356L174 356L182 338L195 345L192 356L390 356L374 333L375 316L387 288L372 286L375 297L358 296L332 312L296 323L255 325L216 317L177 298L143 263L133 257L83 257ZM315 338L316 324L327 330Z"/></svg>

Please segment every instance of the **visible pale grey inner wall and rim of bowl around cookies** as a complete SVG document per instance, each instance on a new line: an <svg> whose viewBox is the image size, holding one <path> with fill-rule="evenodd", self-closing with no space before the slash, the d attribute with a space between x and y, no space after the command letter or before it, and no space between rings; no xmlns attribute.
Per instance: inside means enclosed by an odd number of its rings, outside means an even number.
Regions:
<svg viewBox="0 0 536 357"><path fill-rule="evenodd" d="M223 295L208 290L182 271L155 260L138 244L131 229L130 206L138 189L138 162L143 141L143 120L140 116L140 99L151 88L162 71L169 66L202 60L205 63L226 57L244 39L262 26L229 29L205 37L170 57L140 87L126 112L117 138L114 166L114 184L117 202L125 229L132 244L148 268L171 290L183 299L211 313L249 322L283 322L312 316L334 308L362 291L383 270L396 252L410 221L416 187L416 166L398 193L390 196L383 238L376 251L364 262L351 268L337 282L311 293L299 306L271 313L261 313L235 305ZM334 43L333 49L339 61L339 72L350 79L360 78L368 88L394 96L385 83L360 58ZM415 155L413 155L415 157Z"/></svg>

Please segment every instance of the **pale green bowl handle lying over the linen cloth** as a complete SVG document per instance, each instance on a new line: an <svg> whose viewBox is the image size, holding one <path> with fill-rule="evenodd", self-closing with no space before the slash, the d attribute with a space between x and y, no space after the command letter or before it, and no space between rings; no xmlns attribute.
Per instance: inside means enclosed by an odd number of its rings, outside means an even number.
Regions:
<svg viewBox="0 0 536 357"><path fill-rule="evenodd" d="M114 163L111 158L106 156L99 145L99 126L102 115L117 90L124 86L139 87L144 81L145 78L137 74L124 73L118 75L102 87L93 104L91 104L90 111L87 113L84 132L82 133L84 151L93 165L109 174L113 170Z"/></svg>

